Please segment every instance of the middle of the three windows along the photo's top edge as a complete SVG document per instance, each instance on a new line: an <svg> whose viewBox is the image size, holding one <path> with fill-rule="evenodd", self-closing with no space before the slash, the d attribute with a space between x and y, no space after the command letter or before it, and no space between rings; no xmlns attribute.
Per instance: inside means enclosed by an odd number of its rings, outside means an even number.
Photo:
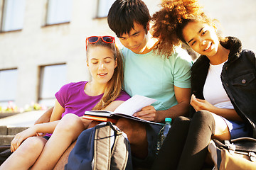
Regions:
<svg viewBox="0 0 256 170"><path fill-rule="evenodd" d="M48 0L46 25L70 22L72 0Z"/></svg>

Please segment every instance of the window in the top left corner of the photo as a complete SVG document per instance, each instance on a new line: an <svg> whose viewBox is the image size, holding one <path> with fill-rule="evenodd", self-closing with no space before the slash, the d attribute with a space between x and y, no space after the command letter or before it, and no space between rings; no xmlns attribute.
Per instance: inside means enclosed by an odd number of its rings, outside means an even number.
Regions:
<svg viewBox="0 0 256 170"><path fill-rule="evenodd" d="M1 31L21 30L25 12L25 0L5 0Z"/></svg>

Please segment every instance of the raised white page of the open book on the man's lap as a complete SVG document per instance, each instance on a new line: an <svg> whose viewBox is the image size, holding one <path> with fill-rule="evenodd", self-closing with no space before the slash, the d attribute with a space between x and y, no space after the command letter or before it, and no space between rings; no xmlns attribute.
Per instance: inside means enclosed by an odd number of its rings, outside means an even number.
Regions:
<svg viewBox="0 0 256 170"><path fill-rule="evenodd" d="M126 115L133 115L134 113L140 111L145 106L149 106L154 103L156 99L148 98L145 96L134 95L132 98L129 98L127 101L118 106L114 113L123 113Z"/></svg>

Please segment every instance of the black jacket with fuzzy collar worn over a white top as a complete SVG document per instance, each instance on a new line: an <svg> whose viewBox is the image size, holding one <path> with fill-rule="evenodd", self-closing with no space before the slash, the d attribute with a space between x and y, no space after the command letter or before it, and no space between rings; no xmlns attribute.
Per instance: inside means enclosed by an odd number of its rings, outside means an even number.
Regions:
<svg viewBox="0 0 256 170"><path fill-rule="evenodd" d="M256 138L256 60L255 53L250 50L242 50L238 38L228 38L228 42L222 44L230 50L228 61L225 62L221 72L223 87L233 104L235 111L250 128L250 134ZM204 99L203 86L209 69L209 60L206 56L196 60L191 70L191 93L196 98ZM194 110L191 109L193 115Z"/></svg>

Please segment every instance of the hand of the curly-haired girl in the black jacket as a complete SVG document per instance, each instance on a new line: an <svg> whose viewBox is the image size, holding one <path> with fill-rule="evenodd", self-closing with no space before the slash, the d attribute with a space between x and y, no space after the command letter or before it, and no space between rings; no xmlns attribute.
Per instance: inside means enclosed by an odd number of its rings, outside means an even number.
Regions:
<svg viewBox="0 0 256 170"><path fill-rule="evenodd" d="M191 96L191 106L193 106L193 108L196 111L201 111L201 110L205 110L205 111L210 111L213 112L215 106L213 106L212 104L210 104L208 101L206 100L201 100L196 98L195 95L192 94Z"/></svg>

